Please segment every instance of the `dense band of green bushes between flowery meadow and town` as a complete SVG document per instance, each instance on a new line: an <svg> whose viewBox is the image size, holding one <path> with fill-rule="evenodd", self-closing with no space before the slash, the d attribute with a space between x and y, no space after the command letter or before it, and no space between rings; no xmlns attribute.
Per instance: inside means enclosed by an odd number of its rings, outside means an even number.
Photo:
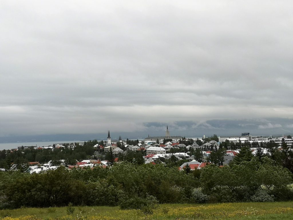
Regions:
<svg viewBox="0 0 293 220"><path fill-rule="evenodd" d="M290 185L291 184L291 185ZM293 199L289 170L268 158L201 169L200 176L165 165L117 163L111 169L40 174L0 173L0 208L106 205L121 208L159 203L272 201ZM265 190L265 191L264 191ZM147 203L146 203L147 202Z"/></svg>

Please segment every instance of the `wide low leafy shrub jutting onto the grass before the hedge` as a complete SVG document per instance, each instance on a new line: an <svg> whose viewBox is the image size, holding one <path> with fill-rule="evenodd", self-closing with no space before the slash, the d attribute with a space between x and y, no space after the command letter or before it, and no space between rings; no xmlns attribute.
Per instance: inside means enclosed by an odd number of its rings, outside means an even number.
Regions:
<svg viewBox="0 0 293 220"><path fill-rule="evenodd" d="M138 195L122 197L119 206L121 209L142 209L148 212L150 209L156 208L157 204L158 200L156 197L147 194L145 198Z"/></svg>

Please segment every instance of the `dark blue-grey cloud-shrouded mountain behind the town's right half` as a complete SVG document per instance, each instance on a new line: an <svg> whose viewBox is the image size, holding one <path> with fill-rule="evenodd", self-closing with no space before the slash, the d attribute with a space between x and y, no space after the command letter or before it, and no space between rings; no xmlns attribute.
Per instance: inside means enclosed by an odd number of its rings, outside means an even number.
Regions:
<svg viewBox="0 0 293 220"><path fill-rule="evenodd" d="M150 135L165 135L166 124L145 123L146 131ZM293 132L293 119L269 118L269 119L238 119L238 120L207 120L203 122L176 121L168 124L170 135L182 135L186 137L202 137L203 135L218 136L241 135L249 132L251 135L278 135Z"/></svg>

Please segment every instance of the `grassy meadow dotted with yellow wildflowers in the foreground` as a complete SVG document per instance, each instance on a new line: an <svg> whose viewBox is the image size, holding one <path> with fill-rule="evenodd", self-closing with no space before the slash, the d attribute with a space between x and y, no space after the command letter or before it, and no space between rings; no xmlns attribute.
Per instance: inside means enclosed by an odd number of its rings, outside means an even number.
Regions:
<svg viewBox="0 0 293 220"><path fill-rule="evenodd" d="M1 220L191 220L191 219L293 219L293 202L162 204L153 214L119 207L75 207L72 215L67 208L23 208L1 210Z"/></svg>

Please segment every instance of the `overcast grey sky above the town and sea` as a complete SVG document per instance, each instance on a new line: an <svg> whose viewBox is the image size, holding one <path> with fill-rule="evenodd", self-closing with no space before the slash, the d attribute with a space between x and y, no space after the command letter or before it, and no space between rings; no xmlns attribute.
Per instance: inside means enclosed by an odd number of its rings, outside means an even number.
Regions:
<svg viewBox="0 0 293 220"><path fill-rule="evenodd" d="M0 1L0 137L292 132L292 11L291 0Z"/></svg>

